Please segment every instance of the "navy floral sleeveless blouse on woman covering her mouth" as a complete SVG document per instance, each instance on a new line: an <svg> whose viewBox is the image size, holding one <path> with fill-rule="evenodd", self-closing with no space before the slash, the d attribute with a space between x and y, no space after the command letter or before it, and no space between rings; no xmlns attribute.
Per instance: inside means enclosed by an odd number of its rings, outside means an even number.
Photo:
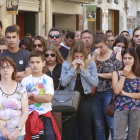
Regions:
<svg viewBox="0 0 140 140"><path fill-rule="evenodd" d="M120 77L120 76L119 76ZM139 93L140 79L126 78L123 90L127 93ZM115 111L140 110L140 100L127 96L117 95L115 99Z"/></svg>

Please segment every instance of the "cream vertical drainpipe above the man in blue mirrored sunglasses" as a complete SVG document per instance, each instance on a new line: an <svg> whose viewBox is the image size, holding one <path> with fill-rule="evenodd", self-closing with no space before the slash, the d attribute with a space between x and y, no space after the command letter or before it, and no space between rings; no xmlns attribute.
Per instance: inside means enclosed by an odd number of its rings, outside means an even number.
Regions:
<svg viewBox="0 0 140 140"><path fill-rule="evenodd" d="M45 10L46 10L46 13L45 13L45 34L46 36L48 36L48 32L50 30L50 23L51 23L51 2L50 0L46 0L46 3L45 3Z"/></svg>

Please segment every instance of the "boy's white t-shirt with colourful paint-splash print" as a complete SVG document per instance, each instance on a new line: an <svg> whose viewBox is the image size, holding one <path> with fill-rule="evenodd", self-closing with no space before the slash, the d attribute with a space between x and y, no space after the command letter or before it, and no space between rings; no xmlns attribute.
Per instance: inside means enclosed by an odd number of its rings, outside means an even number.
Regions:
<svg viewBox="0 0 140 140"><path fill-rule="evenodd" d="M36 95L54 94L53 80L51 77L43 74L41 77L35 78L32 75L23 78L21 84L26 87L27 92ZM29 114L37 111L39 115L45 114L52 110L50 103L35 103L29 105Z"/></svg>

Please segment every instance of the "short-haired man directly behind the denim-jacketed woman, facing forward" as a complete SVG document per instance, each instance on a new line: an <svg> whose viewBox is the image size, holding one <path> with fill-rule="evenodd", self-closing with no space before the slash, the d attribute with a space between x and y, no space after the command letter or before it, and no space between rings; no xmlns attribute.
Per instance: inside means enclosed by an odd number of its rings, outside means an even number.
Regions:
<svg viewBox="0 0 140 140"><path fill-rule="evenodd" d="M92 32L89 30L84 30L81 32L81 39L85 43L85 46L87 48L87 51L89 53L88 58L91 59L91 56L95 50L95 48L92 48L93 45L93 35Z"/></svg>

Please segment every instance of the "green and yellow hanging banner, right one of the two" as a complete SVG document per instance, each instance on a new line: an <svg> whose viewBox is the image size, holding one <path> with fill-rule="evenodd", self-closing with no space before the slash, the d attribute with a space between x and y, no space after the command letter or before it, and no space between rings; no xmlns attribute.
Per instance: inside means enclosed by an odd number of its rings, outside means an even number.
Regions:
<svg viewBox="0 0 140 140"><path fill-rule="evenodd" d="M97 5L86 5L86 18L87 21L95 21Z"/></svg>

